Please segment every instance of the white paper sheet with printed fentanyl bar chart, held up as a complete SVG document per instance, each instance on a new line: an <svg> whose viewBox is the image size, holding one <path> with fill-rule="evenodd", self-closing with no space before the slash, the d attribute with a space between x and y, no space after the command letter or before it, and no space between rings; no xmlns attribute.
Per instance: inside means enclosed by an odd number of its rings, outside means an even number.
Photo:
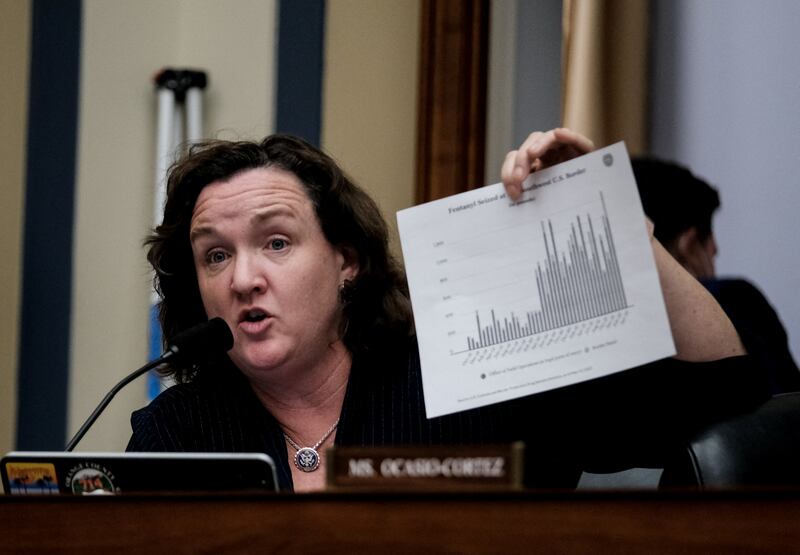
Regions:
<svg viewBox="0 0 800 555"><path fill-rule="evenodd" d="M397 221L428 418L675 354L624 143Z"/></svg>

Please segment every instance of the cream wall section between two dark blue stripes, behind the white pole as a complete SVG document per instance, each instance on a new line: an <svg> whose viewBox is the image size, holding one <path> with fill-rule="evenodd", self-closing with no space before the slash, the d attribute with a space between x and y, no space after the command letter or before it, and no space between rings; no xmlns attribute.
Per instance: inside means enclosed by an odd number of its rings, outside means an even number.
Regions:
<svg viewBox="0 0 800 555"><path fill-rule="evenodd" d="M156 103L165 66L209 74L206 131L273 128L274 0L84 0L73 259L71 435L112 385L147 360ZM220 131L221 130L221 131ZM121 450L145 381L121 393L79 445Z"/></svg>

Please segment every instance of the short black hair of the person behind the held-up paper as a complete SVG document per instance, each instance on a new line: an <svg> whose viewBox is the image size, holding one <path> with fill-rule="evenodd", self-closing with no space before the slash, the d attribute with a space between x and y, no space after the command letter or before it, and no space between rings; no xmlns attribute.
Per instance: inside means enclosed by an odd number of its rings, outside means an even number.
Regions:
<svg viewBox="0 0 800 555"><path fill-rule="evenodd" d="M692 227L703 241L711 236L711 219L720 206L714 187L674 162L639 157L631 164L656 239L667 246Z"/></svg>

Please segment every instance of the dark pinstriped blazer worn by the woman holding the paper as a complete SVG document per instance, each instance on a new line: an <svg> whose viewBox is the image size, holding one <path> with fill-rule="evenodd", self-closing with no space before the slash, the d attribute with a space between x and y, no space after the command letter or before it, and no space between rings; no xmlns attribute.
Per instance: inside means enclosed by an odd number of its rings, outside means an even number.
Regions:
<svg viewBox="0 0 800 555"><path fill-rule="evenodd" d="M545 393L425 417L416 342L353 361L336 445L523 441L529 487L574 487L582 470L660 467L699 426L766 397L748 357L666 359ZM292 490L282 430L238 372L175 385L131 416L128 451L264 452Z"/></svg>

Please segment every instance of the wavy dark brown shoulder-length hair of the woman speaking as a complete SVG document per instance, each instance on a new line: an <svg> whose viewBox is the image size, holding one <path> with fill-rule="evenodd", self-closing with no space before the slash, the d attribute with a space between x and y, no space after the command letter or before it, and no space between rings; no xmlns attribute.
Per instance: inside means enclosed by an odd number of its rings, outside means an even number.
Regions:
<svg viewBox="0 0 800 555"><path fill-rule="evenodd" d="M336 162L306 141L271 135L261 142L213 140L193 145L167 177L164 219L145 240L147 259L161 296L159 319L164 344L207 319L189 240L200 191L254 168L291 172L311 199L325 238L352 249L358 275L345 284L343 341L354 355L380 350L411 334L413 319L405 275L389 250L386 221L372 198ZM195 368L167 368L177 381L190 381Z"/></svg>

